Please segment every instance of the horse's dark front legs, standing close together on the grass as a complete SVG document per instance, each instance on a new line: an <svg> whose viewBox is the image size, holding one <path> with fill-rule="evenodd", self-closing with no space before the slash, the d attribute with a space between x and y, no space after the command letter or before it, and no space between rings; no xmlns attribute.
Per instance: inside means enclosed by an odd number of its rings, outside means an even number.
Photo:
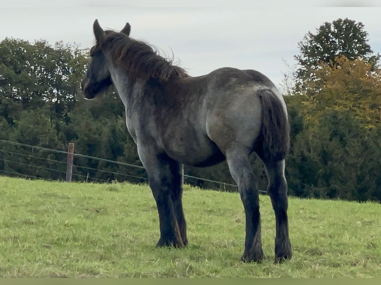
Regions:
<svg viewBox="0 0 381 285"><path fill-rule="evenodd" d="M157 246L184 247L188 240L181 201L181 167L166 154L154 150L152 147L138 147L159 214L160 239Z"/></svg>

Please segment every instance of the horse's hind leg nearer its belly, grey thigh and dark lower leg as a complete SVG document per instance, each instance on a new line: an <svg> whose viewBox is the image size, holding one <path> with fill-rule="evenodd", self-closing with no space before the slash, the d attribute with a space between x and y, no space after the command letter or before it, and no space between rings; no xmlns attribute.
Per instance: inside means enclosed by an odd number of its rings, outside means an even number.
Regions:
<svg viewBox="0 0 381 285"><path fill-rule="evenodd" d="M238 184L239 193L246 215L245 251L241 258L244 262L259 262L263 259L261 242L261 217L259 212L258 183L244 150L226 153L230 173Z"/></svg>

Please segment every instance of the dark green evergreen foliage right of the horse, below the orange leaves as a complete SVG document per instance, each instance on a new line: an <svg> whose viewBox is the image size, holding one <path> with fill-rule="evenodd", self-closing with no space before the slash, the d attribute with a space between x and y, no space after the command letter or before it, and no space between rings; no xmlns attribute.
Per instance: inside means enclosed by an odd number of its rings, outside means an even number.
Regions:
<svg viewBox="0 0 381 285"><path fill-rule="evenodd" d="M324 111L317 126L295 136L286 167L291 195L381 201L380 132L350 112Z"/></svg>

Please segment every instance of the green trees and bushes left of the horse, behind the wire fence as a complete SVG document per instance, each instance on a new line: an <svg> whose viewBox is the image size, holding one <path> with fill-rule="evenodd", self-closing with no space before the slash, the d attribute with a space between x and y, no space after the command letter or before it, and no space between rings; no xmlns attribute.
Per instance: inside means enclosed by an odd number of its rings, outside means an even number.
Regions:
<svg viewBox="0 0 381 285"><path fill-rule="evenodd" d="M0 139L64 151L67 143L74 142L77 153L136 164L136 146L127 133L119 97L108 94L102 103L83 98L80 81L88 62L86 52L63 43L51 47L45 41L31 44L6 38L0 42ZM34 151L31 158L27 156L30 151L28 147L4 145L0 170L54 180L65 178L64 164L41 159L65 162L63 154ZM90 176L124 181L127 177L97 169L145 176L141 169L125 169L84 157L76 157L75 163L76 180Z"/></svg>

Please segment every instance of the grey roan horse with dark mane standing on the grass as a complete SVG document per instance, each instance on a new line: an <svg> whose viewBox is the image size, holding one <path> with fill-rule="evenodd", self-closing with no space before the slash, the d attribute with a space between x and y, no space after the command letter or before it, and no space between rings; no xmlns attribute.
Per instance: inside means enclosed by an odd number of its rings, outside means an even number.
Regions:
<svg viewBox="0 0 381 285"><path fill-rule="evenodd" d="M125 106L126 126L137 145L159 214L157 246L187 246L183 211L183 166L226 160L245 210L243 262L264 259L258 181L249 162L256 153L268 177L276 218L275 262L292 255L288 237L285 158L289 151L286 103L259 71L220 68L190 76L151 45L103 30L95 19L95 45L81 88L99 98L113 85Z"/></svg>

